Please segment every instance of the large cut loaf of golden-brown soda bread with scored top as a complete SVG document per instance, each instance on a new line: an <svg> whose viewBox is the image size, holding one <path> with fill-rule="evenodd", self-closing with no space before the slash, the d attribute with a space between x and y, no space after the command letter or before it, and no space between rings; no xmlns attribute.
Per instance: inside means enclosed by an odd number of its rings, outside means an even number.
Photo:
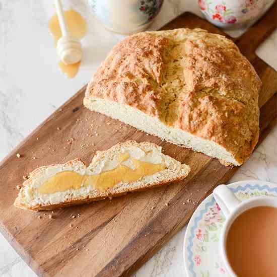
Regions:
<svg viewBox="0 0 277 277"><path fill-rule="evenodd" d="M224 36L201 29L144 32L113 47L84 105L241 165L258 141L260 87L253 66Z"/></svg>

